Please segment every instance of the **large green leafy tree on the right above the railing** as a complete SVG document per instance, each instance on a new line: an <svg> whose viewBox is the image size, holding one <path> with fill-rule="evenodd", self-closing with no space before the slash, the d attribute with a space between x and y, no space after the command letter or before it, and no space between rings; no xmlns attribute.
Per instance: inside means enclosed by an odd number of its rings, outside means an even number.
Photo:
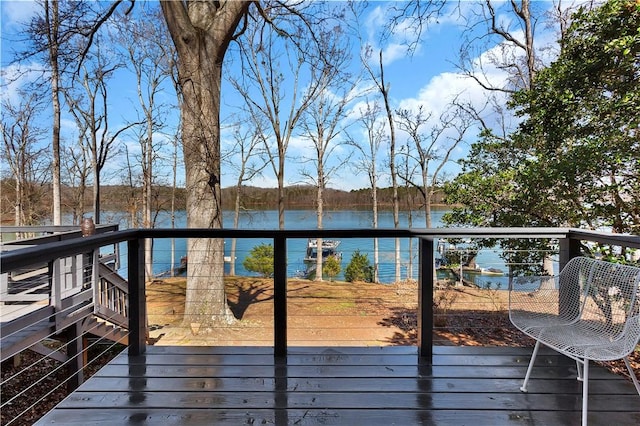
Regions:
<svg viewBox="0 0 640 426"><path fill-rule="evenodd" d="M463 206L449 224L640 233L640 5L613 0L572 18L558 59L511 99L520 126L481 134L445 188Z"/></svg>

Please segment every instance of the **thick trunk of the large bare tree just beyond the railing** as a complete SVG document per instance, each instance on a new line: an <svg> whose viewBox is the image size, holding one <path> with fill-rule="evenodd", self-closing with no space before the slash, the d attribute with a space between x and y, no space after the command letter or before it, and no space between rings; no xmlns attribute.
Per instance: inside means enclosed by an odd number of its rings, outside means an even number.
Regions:
<svg viewBox="0 0 640 426"><path fill-rule="evenodd" d="M248 2L163 1L178 52L187 226L221 228L220 87L222 62ZM233 321L224 292L224 241L188 243L184 322L203 327Z"/></svg>

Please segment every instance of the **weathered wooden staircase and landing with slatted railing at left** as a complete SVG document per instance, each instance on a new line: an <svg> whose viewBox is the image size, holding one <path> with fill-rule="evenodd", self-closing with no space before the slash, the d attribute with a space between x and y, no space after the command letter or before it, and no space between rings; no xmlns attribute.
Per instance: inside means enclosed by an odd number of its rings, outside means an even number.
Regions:
<svg viewBox="0 0 640 426"><path fill-rule="evenodd" d="M88 253L0 274L0 358L25 349L64 361L43 345L93 335L128 344L128 282L114 255ZM56 352L54 354L54 352Z"/></svg>

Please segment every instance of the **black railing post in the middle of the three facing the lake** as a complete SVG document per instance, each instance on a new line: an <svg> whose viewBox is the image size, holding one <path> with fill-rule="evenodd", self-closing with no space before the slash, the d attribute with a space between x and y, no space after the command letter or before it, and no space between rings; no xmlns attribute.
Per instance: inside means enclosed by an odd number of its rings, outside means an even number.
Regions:
<svg viewBox="0 0 640 426"><path fill-rule="evenodd" d="M273 355L287 356L287 239L277 236L273 245Z"/></svg>

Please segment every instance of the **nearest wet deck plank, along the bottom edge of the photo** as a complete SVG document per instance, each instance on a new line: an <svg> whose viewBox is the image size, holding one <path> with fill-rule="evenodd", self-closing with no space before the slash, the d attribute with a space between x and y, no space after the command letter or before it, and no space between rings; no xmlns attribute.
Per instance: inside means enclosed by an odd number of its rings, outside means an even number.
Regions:
<svg viewBox="0 0 640 426"><path fill-rule="evenodd" d="M57 409L47 423L66 426L91 425L553 425L577 426L579 414L518 410L227 410L134 409L92 410L90 418L78 416L78 410ZM44 420L44 419L43 419ZM88 423L90 421L90 423ZM590 412L591 425L637 425L638 413Z"/></svg>

